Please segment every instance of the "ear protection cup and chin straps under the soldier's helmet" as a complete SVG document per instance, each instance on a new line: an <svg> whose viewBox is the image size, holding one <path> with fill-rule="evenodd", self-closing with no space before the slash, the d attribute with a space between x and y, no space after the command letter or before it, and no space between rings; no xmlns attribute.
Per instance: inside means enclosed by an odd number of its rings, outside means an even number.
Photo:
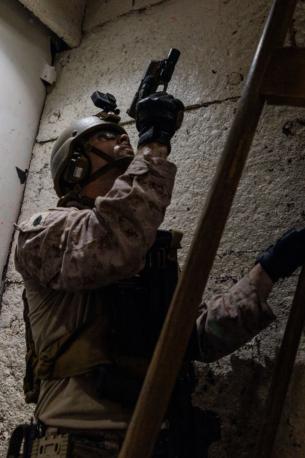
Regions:
<svg viewBox="0 0 305 458"><path fill-rule="evenodd" d="M70 195L77 197L79 192L84 189L86 185L95 181L97 178L105 174L110 169L120 169L123 172L126 172L129 164L133 161L133 157L126 156L123 158L114 159L109 154L104 153L100 149L93 146L90 142L80 139L79 143L82 145L85 151L91 151L91 153L96 154L96 156L107 161L100 169L96 170L93 174L91 173L91 163L89 158L86 156L86 153L83 153L80 147L75 148L76 151L72 154L72 158L67 167L67 171L64 175L64 180L69 183L75 183L73 191L70 192Z"/></svg>

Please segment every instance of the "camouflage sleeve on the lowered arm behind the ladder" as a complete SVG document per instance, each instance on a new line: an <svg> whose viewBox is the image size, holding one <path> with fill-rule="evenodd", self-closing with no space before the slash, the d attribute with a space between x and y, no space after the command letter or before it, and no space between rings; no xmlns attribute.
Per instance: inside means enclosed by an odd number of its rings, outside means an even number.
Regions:
<svg viewBox="0 0 305 458"><path fill-rule="evenodd" d="M199 308L201 360L211 363L239 349L276 319L246 276L228 293L217 294Z"/></svg>

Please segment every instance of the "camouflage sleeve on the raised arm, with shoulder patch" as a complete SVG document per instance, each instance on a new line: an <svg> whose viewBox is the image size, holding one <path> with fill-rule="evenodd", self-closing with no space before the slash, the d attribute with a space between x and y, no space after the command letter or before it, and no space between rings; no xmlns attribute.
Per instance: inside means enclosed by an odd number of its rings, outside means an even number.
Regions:
<svg viewBox="0 0 305 458"><path fill-rule="evenodd" d="M135 275L171 202L176 170L144 153L106 196L96 198L93 210L57 208L21 223L16 270L24 279L67 291Z"/></svg>

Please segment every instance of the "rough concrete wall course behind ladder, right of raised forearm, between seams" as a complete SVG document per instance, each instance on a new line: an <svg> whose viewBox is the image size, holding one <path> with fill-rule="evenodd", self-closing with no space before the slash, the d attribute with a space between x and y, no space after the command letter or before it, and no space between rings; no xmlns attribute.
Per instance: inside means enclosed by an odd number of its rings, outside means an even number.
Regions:
<svg viewBox="0 0 305 458"><path fill-rule="evenodd" d="M178 221L186 234L196 228L236 104L229 101L186 113L171 153L178 173L166 226ZM289 228L292 219L304 224L304 202L299 197L305 186L304 118L304 109L296 113L295 108L266 106L263 110L221 251L259 251L276 240L283 227ZM291 124L294 134L285 127ZM183 243L184 254L189 241Z"/></svg>

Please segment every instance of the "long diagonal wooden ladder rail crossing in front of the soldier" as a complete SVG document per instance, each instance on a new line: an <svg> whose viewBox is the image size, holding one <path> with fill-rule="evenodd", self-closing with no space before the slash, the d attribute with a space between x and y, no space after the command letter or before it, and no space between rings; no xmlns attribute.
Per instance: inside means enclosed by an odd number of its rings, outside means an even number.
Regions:
<svg viewBox="0 0 305 458"><path fill-rule="evenodd" d="M274 0L118 458L150 458L265 102L260 85L297 0Z"/></svg>

